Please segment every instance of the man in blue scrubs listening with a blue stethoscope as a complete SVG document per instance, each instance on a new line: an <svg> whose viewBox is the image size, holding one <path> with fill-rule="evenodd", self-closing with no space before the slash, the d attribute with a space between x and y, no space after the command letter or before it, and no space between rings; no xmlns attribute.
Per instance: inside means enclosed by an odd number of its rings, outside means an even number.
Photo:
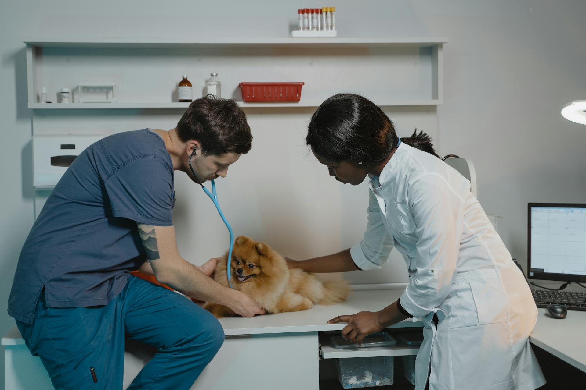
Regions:
<svg viewBox="0 0 586 390"><path fill-rule="evenodd" d="M175 129L114 134L71 164L30 230L8 302L56 389L121 390L125 337L158 349L128 389L189 389L222 346L209 312L131 271L242 316L264 313L209 277L217 259L197 267L179 255L171 213L174 171L226 177L252 138L236 102L200 98Z"/></svg>

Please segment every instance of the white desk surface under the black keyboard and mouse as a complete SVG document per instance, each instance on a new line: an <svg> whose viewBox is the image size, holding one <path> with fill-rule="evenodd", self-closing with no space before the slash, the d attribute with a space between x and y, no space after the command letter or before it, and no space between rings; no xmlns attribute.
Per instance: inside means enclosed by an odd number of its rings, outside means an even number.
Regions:
<svg viewBox="0 0 586 390"><path fill-rule="evenodd" d="M529 341L586 372L586 312L568 310L565 319L546 315L546 309L537 309L537 323Z"/></svg>

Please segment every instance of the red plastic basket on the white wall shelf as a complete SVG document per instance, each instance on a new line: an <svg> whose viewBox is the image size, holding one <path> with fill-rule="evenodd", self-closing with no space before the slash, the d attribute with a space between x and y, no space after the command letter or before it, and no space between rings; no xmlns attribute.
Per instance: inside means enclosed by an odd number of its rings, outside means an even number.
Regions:
<svg viewBox="0 0 586 390"><path fill-rule="evenodd" d="M241 82L245 102L298 102L305 82Z"/></svg>

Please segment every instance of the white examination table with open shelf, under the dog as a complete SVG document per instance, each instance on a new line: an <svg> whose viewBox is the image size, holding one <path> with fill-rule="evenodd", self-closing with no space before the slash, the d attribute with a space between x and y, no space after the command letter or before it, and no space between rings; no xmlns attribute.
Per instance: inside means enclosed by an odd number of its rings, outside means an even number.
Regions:
<svg viewBox="0 0 586 390"><path fill-rule="evenodd" d="M318 390L320 333L338 331L345 326L327 325L326 321L341 313L381 309L384 303L394 302L401 292L400 289L355 291L346 302L338 305L316 305L312 309L296 313L221 319L226 340L192 389ZM421 326L421 322L405 320L391 327ZM331 334L321 336L323 358L329 361L346 357L415 355L418 349L397 344L390 348L337 350L328 347L324 342L329 336ZM52 389L40 358L30 354L16 327L2 338L2 345L5 346L6 389ZM124 388L130 385L155 352L152 347L127 340L124 353ZM251 375L251 372L260 375ZM402 373L397 372L396 375L402 376ZM248 384L248 379L254 380L254 383Z"/></svg>

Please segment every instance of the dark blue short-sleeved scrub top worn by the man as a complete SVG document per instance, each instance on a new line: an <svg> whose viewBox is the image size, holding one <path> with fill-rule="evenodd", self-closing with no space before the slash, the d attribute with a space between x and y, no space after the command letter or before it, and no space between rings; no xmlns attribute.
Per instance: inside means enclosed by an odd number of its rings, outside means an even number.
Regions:
<svg viewBox="0 0 586 390"><path fill-rule="evenodd" d="M106 305L146 260L137 222L173 225L173 164L149 129L84 150L47 199L21 251L8 314L32 323L40 292L52 308Z"/></svg>

